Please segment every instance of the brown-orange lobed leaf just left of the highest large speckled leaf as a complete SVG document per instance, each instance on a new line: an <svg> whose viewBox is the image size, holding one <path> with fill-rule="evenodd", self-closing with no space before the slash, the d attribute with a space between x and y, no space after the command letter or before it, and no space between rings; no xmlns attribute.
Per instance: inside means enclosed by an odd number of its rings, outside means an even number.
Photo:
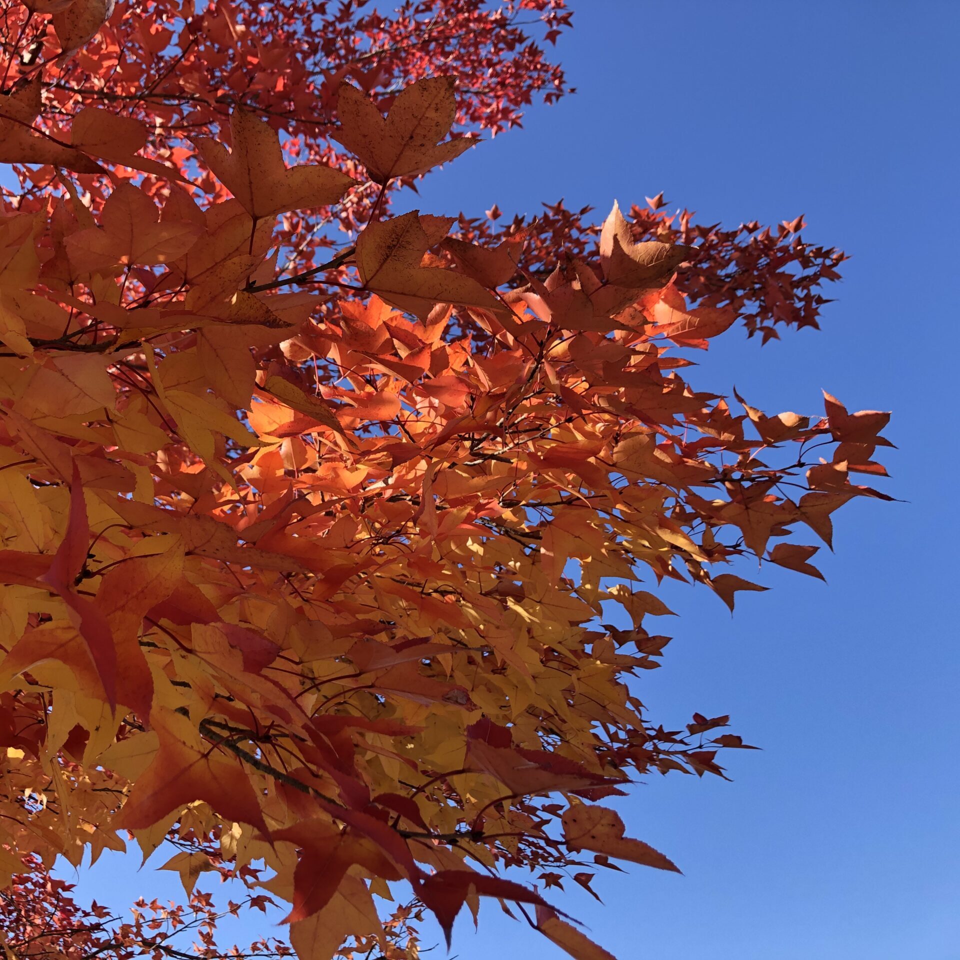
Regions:
<svg viewBox="0 0 960 960"><path fill-rule="evenodd" d="M356 182L322 163L288 170L279 136L241 107L230 113L230 144L228 151L210 137L194 140L204 163L254 220L335 204Z"/></svg>

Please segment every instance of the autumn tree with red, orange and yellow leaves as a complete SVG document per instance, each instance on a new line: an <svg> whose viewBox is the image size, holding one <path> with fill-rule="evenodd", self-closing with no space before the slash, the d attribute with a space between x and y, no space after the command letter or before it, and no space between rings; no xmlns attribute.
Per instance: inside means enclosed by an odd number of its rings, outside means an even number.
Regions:
<svg viewBox="0 0 960 960"><path fill-rule="evenodd" d="M887 415L767 416L681 375L738 324L815 326L841 252L662 197L602 225L394 215L564 95L538 37L571 14L365 6L3 5L17 955L176 955L151 931L186 923L221 955L203 895L138 928L47 873L135 842L239 879L228 911L287 901L304 960L413 956L424 911L449 937L481 897L609 956L551 888L676 867L602 802L744 746L725 716L647 715L669 611L637 580L732 609L763 589L738 559L819 575L804 531L829 544L835 510L884 495L851 476L883 473Z"/></svg>

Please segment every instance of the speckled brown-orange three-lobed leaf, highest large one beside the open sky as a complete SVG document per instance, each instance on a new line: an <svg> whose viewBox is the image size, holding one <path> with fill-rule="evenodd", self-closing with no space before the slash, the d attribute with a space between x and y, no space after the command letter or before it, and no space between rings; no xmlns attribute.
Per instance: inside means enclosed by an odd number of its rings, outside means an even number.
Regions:
<svg viewBox="0 0 960 960"><path fill-rule="evenodd" d="M419 80L400 92L384 118L370 97L345 82L337 97L340 128L334 138L360 158L377 183L424 173L476 143L471 137L440 142L456 116L455 87L452 77Z"/></svg>

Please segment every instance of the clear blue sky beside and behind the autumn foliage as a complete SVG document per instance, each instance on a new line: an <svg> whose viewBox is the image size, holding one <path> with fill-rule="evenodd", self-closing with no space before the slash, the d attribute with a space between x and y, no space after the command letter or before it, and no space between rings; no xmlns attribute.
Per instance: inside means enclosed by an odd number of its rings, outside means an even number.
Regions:
<svg viewBox="0 0 960 960"><path fill-rule="evenodd" d="M638 693L658 718L731 713L763 753L732 782L675 775L621 804L684 876L636 867L558 901L621 960L960 958L955 380L960 3L574 0L575 97L430 178L424 211L606 212L660 190L702 222L806 215L853 254L822 332L724 337L694 374L768 411L893 410L885 489L837 516L828 586L764 571L735 617L706 590ZM466 199L465 199L466 198ZM402 212L403 204L397 205ZM813 540L810 540L813 542ZM741 571L743 572L743 571ZM111 861L83 884L152 892ZM575 884L573 885L575 886ZM559 960L525 924L462 917L462 960ZM429 956L442 956L437 948Z"/></svg>

